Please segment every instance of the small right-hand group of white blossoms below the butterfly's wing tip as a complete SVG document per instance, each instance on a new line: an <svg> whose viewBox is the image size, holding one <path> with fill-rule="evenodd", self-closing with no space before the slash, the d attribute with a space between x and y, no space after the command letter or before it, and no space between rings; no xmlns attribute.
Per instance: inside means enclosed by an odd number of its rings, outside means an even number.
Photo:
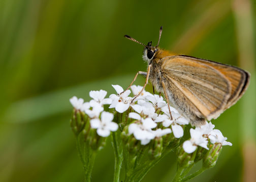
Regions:
<svg viewBox="0 0 256 182"><path fill-rule="evenodd" d="M215 126L211 122L206 122L205 125L196 127L195 129L190 128L191 139L183 143L183 149L186 153L193 153L197 146L201 146L208 149L208 139L212 144L220 143L222 146L232 146L230 142L227 142L227 138L222 135L220 130L213 129Z"/></svg>

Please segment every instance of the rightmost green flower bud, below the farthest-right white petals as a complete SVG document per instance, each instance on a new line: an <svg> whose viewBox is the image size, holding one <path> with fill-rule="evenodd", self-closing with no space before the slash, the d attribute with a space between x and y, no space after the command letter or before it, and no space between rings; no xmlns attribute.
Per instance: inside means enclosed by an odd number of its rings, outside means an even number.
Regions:
<svg viewBox="0 0 256 182"><path fill-rule="evenodd" d="M204 155L203 167L209 169L215 166L218 156L221 152L222 145L220 143L211 144L209 150Z"/></svg>

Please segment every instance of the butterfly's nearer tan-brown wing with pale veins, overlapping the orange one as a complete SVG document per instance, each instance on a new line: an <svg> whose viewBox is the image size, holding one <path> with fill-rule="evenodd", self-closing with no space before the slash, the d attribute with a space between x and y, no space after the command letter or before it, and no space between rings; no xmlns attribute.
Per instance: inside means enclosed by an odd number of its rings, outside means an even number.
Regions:
<svg viewBox="0 0 256 182"><path fill-rule="evenodd" d="M170 56L162 61L162 76L171 84L167 89L170 93L178 89L180 92L175 93L182 95L174 96L172 102L176 107L182 106L187 117L190 117L187 111L197 116L200 111L207 120L211 120L225 110L231 96L231 83L220 71L197 58ZM182 98L190 103L184 105Z"/></svg>

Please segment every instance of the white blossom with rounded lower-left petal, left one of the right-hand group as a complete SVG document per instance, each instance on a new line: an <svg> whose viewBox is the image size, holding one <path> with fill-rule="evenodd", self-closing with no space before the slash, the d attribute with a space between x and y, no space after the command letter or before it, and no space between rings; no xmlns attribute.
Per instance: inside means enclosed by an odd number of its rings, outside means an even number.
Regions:
<svg viewBox="0 0 256 182"><path fill-rule="evenodd" d="M201 146L205 149L208 149L207 138L203 137L203 132L201 129L190 128L190 136L191 136L191 139L188 141L185 141L182 146L186 153L188 154L193 153L197 149L197 146Z"/></svg>

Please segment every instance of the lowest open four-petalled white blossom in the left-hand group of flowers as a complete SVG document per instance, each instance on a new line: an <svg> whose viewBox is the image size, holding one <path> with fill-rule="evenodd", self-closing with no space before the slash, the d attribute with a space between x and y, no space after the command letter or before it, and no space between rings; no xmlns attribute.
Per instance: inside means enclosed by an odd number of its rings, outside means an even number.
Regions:
<svg viewBox="0 0 256 182"><path fill-rule="evenodd" d="M110 131L116 131L118 125L112 122L114 115L109 112L103 111L101 114L101 119L95 118L90 120L90 126L97 129L97 133L102 137L107 137Z"/></svg>

